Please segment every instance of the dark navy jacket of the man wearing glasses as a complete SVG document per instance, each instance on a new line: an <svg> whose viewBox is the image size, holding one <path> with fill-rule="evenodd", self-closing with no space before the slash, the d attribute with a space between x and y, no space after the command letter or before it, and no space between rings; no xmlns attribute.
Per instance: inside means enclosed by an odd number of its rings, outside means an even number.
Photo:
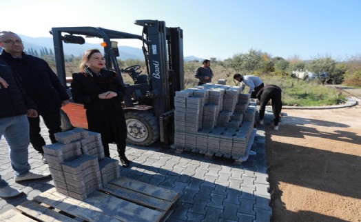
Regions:
<svg viewBox="0 0 361 222"><path fill-rule="evenodd" d="M65 88L45 60L24 52L21 58L14 58L5 50L2 50L0 58L19 75L23 89L37 104L39 114L56 112L61 108L61 102L69 99Z"/></svg>

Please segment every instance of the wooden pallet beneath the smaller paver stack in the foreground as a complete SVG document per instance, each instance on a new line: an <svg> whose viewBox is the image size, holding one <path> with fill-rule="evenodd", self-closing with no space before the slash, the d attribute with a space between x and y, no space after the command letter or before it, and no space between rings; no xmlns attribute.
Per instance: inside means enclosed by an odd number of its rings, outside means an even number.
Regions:
<svg viewBox="0 0 361 222"><path fill-rule="evenodd" d="M16 221L165 221L180 197L178 192L128 178L116 179L80 201L52 188L17 206L27 220ZM14 216L9 216L13 221ZM18 218L18 217L16 217ZM1 220L0 220L1 221Z"/></svg>

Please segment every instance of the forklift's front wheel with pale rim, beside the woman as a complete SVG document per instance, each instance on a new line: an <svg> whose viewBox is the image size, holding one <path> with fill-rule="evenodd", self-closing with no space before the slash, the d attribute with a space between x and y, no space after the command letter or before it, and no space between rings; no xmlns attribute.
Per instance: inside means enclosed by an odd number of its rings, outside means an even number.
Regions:
<svg viewBox="0 0 361 222"><path fill-rule="evenodd" d="M159 139L159 121L147 111L126 112L127 143L147 146Z"/></svg>

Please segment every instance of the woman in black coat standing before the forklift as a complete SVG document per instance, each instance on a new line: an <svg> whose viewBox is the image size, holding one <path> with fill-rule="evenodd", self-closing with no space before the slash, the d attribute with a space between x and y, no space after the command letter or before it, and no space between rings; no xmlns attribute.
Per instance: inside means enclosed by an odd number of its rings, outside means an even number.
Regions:
<svg viewBox="0 0 361 222"><path fill-rule="evenodd" d="M105 59L97 49L85 51L81 71L72 75L72 99L84 104L88 129L101 134L105 157L110 157L109 143L115 142L123 167L128 167L127 126L121 105L125 88L116 72L105 70Z"/></svg>

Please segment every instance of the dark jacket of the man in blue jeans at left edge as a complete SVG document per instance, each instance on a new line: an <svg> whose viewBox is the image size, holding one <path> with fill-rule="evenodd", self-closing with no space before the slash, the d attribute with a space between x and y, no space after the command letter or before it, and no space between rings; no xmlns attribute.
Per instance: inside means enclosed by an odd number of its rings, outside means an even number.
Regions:
<svg viewBox="0 0 361 222"><path fill-rule="evenodd" d="M0 118L23 115L28 109L36 110L37 105L25 94L19 78L14 75L10 65L2 59L0 59L0 77L9 85L8 88L0 85Z"/></svg>

